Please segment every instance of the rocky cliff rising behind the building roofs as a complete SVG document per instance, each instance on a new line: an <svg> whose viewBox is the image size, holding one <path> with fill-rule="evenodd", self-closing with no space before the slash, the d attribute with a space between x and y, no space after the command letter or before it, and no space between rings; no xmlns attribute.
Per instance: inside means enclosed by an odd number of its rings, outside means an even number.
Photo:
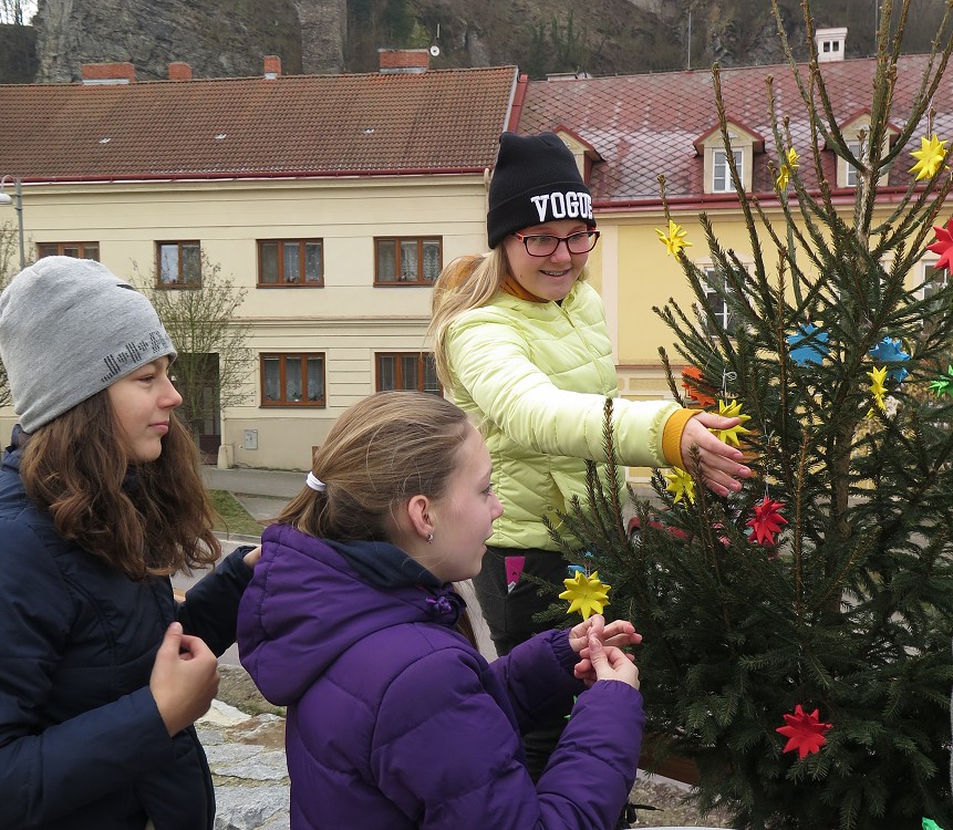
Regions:
<svg viewBox="0 0 953 830"><path fill-rule="evenodd" d="M904 49L928 51L944 0L911 2ZM778 4L804 43L800 0ZM811 9L816 25L848 28L848 58L871 53L870 0ZM177 61L196 77L257 75L266 54L286 74L373 72L377 49L432 45L437 69L517 64L535 79L784 60L766 0L39 0L34 24L2 27L0 52L20 58L0 60L0 83L76 81L103 62L130 62L139 80Z"/></svg>

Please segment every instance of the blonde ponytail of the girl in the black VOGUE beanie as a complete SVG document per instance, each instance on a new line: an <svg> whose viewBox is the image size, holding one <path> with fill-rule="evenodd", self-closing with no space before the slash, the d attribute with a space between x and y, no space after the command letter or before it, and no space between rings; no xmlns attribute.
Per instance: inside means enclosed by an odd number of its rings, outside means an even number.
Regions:
<svg viewBox="0 0 953 830"><path fill-rule="evenodd" d="M508 273L509 262L500 245L489 253L458 257L437 277L427 336L434 349L437 377L445 390L453 386L446 346L450 323L465 311L486 305L503 288Z"/></svg>

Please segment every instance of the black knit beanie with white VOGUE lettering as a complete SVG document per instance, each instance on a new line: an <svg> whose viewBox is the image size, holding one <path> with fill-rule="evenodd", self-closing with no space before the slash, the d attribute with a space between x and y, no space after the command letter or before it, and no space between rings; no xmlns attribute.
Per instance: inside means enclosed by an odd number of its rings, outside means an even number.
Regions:
<svg viewBox="0 0 953 830"><path fill-rule="evenodd" d="M555 133L504 133L489 183L489 247L514 231L557 219L581 219L595 227L592 196L572 151Z"/></svg>

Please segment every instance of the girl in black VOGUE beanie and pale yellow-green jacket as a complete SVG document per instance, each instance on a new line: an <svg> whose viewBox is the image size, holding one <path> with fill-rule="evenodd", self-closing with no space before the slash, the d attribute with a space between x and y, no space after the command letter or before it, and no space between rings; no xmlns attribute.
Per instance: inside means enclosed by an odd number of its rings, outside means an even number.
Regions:
<svg viewBox="0 0 953 830"><path fill-rule="evenodd" d="M504 515L494 525L477 598L499 654L541 630L534 615L562 590L568 562L543 517L586 497L586 460L600 461L603 409L614 398L621 465L686 467L701 453L707 486L740 489L742 453L708 427L737 418L683 409L673 401L618 397L612 342L586 262L599 231L576 158L553 133L504 133L489 186L487 255L450 262L434 286L429 335L437 374L454 402L485 429ZM552 583L540 599L532 580ZM572 699L525 735L535 778L566 724Z"/></svg>

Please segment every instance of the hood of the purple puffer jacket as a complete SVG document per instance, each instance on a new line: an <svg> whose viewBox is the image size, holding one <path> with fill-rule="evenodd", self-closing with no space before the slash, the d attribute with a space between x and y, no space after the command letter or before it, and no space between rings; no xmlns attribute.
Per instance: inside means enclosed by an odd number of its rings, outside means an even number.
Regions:
<svg viewBox="0 0 953 830"><path fill-rule="evenodd" d="M241 664L273 704L298 701L362 639L393 625L452 627L465 608L387 542L331 542L287 525L261 536L261 561L238 612Z"/></svg>

